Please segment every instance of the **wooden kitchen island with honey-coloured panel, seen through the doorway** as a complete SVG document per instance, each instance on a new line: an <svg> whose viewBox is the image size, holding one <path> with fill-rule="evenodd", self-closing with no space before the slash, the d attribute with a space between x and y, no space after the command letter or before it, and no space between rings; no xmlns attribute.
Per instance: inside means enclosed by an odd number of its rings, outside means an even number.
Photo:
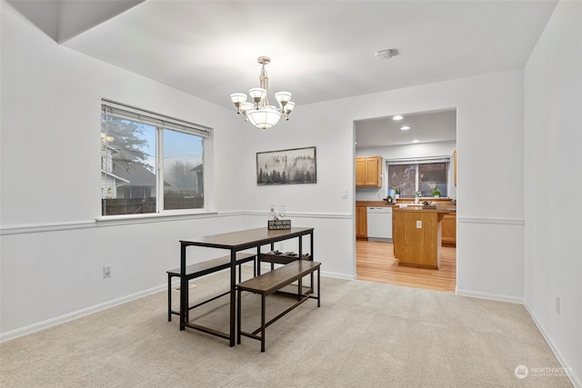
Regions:
<svg viewBox="0 0 582 388"><path fill-rule="evenodd" d="M426 268L440 266L442 220L447 208L394 207L394 256L400 265Z"/></svg>

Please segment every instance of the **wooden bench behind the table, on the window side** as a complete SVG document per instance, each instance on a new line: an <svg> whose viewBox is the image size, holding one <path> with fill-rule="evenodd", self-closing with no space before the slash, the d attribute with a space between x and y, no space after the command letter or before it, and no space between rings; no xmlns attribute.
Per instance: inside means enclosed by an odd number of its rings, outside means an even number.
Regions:
<svg viewBox="0 0 582 388"><path fill-rule="evenodd" d="M238 281L241 281L241 271L240 265L245 264L248 262L255 263L256 255L255 254L236 254L236 265L238 265ZM192 279L196 279L197 277L204 276L206 274L213 274L218 271L226 270L230 268L230 255L218 257L216 259L207 260L206 262L196 263L192 265L186 266L186 279L188 282ZM256 270L256 265L255 265ZM180 277L180 268L176 268L173 270L167 271L167 320L172 321L172 314L179 315L180 312L176 310L172 310L172 278L173 277ZM226 293L221 293L220 295L216 295L213 298L210 298L204 302L197 303L194 306L188 306L188 311L195 309L203 304L208 302L212 302L218 299L221 296L225 296L226 294L230 293L227 291ZM187 295L187 293L186 293ZM187 297L186 297L187 299ZM189 303L188 303L189 304Z"/></svg>

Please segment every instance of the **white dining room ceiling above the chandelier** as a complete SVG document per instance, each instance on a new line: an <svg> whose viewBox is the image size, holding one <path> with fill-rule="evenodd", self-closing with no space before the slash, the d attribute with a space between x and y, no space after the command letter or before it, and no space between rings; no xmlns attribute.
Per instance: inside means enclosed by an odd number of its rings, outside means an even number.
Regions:
<svg viewBox="0 0 582 388"><path fill-rule="evenodd" d="M314 104L522 68L556 0L9 1L61 45L211 103L258 85ZM377 60L375 53L398 54ZM293 115L291 117L293 117ZM292 118L291 118L292 119ZM367 123L371 125L371 123Z"/></svg>

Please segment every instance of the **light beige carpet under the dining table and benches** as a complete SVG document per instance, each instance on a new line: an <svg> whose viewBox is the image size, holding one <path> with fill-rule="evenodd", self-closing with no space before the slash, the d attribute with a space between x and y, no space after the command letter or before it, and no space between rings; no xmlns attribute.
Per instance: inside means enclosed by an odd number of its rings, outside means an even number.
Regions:
<svg viewBox="0 0 582 388"><path fill-rule="evenodd" d="M191 302L227 284L227 273L196 279ZM521 304L326 277L321 291L320 308L309 300L267 328L266 353L246 337L231 348L213 335L180 332L176 315L167 322L166 292L149 295L1 343L0 385L572 386L563 373L517 377L519 365L560 367ZM227 302L223 297L192 316L226 331ZM267 312L274 316L286 303L270 298ZM256 295L244 294L243 309L244 330L258 327Z"/></svg>

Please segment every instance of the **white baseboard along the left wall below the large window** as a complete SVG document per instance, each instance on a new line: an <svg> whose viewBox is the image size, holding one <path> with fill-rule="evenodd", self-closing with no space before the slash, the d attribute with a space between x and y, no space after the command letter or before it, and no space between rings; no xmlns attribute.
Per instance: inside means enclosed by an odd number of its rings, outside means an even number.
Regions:
<svg viewBox="0 0 582 388"><path fill-rule="evenodd" d="M82 310L75 311L73 313L65 313L64 315L57 316L55 318L47 319L46 321L33 323L19 329L15 329L10 332L0 333L0 343L6 341L14 340L15 338L22 337L26 334L31 334L35 332L40 332L41 330L48 329L49 327L55 326L57 324L73 321L75 319L81 318L85 315L90 315L92 313L97 313L102 310L114 307L118 304L131 302L135 299L143 298L144 296L150 295L152 293L159 293L160 291L166 290L167 284L158 285L157 287L150 288L139 293L132 293L124 297L114 299L105 303L95 304L94 306L87 307Z"/></svg>

